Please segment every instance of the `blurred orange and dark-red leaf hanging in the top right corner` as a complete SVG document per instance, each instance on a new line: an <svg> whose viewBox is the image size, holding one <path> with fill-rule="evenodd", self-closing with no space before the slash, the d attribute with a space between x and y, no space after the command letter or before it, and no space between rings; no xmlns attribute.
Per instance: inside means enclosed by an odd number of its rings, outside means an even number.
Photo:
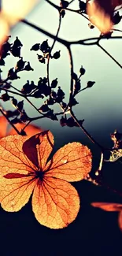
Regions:
<svg viewBox="0 0 122 256"><path fill-rule="evenodd" d="M107 33L113 28L113 10L121 6L122 0L94 0L87 2L87 14L102 33Z"/></svg>

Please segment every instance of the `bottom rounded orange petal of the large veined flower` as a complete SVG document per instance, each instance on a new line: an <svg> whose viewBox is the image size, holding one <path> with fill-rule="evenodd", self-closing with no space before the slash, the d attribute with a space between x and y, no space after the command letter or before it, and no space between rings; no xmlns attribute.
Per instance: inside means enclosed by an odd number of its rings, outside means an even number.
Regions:
<svg viewBox="0 0 122 256"><path fill-rule="evenodd" d="M40 224L48 228L65 228L79 212L79 195L65 180L44 178L35 186L32 210Z"/></svg>

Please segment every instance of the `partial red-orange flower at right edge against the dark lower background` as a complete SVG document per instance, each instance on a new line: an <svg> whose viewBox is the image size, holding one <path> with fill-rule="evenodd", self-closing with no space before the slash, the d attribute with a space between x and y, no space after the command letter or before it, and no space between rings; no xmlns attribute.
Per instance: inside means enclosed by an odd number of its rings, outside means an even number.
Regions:
<svg viewBox="0 0 122 256"><path fill-rule="evenodd" d="M91 206L98 207L107 212L119 212L118 224L122 231L122 204L113 202L92 202Z"/></svg>

